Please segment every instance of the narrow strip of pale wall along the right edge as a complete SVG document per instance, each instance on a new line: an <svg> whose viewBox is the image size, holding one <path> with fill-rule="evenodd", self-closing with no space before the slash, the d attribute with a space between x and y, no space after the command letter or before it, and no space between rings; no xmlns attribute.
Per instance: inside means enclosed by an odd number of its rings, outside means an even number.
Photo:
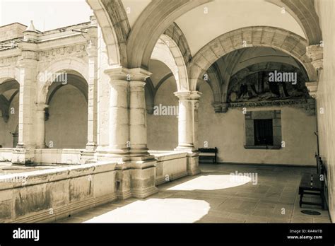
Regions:
<svg viewBox="0 0 335 246"><path fill-rule="evenodd" d="M333 0L316 1L324 42L323 71L317 88L317 112L320 153L327 166L329 189L329 213L335 220L335 2Z"/></svg>

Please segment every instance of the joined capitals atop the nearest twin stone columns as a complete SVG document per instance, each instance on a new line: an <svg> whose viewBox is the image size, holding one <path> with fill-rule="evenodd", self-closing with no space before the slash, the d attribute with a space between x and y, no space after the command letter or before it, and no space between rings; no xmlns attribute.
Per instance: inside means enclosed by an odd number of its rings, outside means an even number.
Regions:
<svg viewBox="0 0 335 246"><path fill-rule="evenodd" d="M105 70L112 80L119 81L142 81L145 82L146 78L151 76L151 72L145 69L127 69L122 66L117 66L112 69Z"/></svg>

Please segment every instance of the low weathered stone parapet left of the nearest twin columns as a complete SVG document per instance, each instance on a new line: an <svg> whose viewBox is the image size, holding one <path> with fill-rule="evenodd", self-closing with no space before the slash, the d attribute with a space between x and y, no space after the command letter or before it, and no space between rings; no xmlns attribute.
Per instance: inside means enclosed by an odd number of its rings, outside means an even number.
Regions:
<svg viewBox="0 0 335 246"><path fill-rule="evenodd" d="M52 222L117 199L116 163L0 176L0 223Z"/></svg>

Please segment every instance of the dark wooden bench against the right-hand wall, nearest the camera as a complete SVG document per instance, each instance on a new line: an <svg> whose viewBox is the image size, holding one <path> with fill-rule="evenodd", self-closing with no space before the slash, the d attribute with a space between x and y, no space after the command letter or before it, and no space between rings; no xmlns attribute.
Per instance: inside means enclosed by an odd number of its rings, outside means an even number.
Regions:
<svg viewBox="0 0 335 246"><path fill-rule="evenodd" d="M317 158L317 172L304 174L301 177L299 185L300 208L302 204L307 204L321 206L322 209L324 209L324 180L327 172L322 163L322 159L317 155L315 155L315 157ZM321 197L321 202L303 201L305 194L319 196Z"/></svg>

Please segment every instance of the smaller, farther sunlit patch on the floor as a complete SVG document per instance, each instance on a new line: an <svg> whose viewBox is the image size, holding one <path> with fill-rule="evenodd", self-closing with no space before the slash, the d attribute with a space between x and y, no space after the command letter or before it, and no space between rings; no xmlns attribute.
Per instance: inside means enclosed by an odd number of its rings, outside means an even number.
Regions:
<svg viewBox="0 0 335 246"><path fill-rule="evenodd" d="M168 190L213 190L213 189L227 189L245 185L251 182L251 178L247 176L238 175L206 175L196 177L180 185L170 187Z"/></svg>

